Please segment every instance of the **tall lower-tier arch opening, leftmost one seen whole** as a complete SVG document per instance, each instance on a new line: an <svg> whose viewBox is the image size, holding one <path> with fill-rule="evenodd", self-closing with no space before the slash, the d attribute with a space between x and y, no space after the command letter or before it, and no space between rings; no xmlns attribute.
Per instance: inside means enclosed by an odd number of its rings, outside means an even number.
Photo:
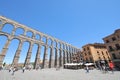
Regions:
<svg viewBox="0 0 120 80"><path fill-rule="evenodd" d="M19 40L18 39L13 39L11 41L3 62L5 62L6 64L12 64L12 61L13 61L13 58L15 56L18 45L19 45Z"/></svg>

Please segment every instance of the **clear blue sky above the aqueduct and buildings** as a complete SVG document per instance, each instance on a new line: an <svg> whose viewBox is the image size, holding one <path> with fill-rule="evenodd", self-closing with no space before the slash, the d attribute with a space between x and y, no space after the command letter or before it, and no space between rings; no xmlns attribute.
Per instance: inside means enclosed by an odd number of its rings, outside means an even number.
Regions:
<svg viewBox="0 0 120 80"><path fill-rule="evenodd" d="M0 0L0 15L81 48L119 29L120 0Z"/></svg>

